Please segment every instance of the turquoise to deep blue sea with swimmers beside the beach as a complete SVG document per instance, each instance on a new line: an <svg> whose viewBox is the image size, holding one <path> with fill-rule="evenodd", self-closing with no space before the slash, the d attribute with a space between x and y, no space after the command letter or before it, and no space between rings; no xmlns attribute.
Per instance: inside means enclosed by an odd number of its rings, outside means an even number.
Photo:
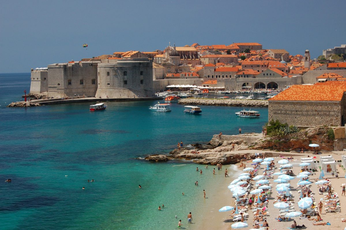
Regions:
<svg viewBox="0 0 346 230"><path fill-rule="evenodd" d="M1 230L176 229L179 219L193 229L187 214L224 175L192 161L143 158L168 154L180 141L206 144L220 131L261 132L268 119L267 108L256 108L256 119L236 117L240 107L201 106L201 115L184 114L179 104L150 111L157 101L105 102L107 110L96 112L90 103L6 107L24 90L30 73L0 74Z"/></svg>

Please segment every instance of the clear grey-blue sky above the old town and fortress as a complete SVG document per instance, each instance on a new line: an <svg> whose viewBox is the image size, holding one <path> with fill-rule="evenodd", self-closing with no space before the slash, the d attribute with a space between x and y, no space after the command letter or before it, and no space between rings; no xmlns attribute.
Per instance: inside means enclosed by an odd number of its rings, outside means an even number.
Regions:
<svg viewBox="0 0 346 230"><path fill-rule="evenodd" d="M0 73L171 45L257 42L290 55L346 44L345 4L333 1L4 1ZM83 48L84 43L88 48Z"/></svg>

